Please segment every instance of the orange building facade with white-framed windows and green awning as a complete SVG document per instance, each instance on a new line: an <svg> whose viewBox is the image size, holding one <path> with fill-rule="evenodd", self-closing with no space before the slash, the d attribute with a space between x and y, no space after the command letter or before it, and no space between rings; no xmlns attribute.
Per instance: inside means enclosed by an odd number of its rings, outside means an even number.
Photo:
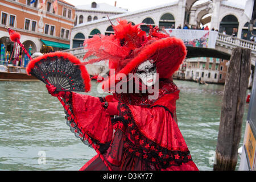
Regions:
<svg viewBox="0 0 256 182"><path fill-rule="evenodd" d="M20 42L32 53L48 53L69 49L71 29L75 22L75 6L65 1L1 0L0 43L11 53L14 43L10 42L6 26L19 32Z"/></svg>

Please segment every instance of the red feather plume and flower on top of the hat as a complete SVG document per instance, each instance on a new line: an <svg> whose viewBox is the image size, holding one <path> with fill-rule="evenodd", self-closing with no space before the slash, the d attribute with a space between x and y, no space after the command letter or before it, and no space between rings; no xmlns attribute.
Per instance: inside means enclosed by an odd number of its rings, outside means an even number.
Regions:
<svg viewBox="0 0 256 182"><path fill-rule="evenodd" d="M118 23L117 26L113 26L114 35L94 35L93 38L84 41L85 49L88 51L84 59L90 56L96 58L81 63L82 65L109 60L109 68L118 69L131 60L131 53L135 48L146 43L146 32L138 28L140 24L133 26L127 20L118 20Z"/></svg>

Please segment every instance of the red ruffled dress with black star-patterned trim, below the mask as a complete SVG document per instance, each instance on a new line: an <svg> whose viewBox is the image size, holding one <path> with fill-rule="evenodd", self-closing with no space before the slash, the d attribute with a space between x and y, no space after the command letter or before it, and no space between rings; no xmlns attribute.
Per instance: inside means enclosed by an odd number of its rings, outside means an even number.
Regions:
<svg viewBox="0 0 256 182"><path fill-rule="evenodd" d="M198 170L174 119L177 99L179 89L167 79L159 81L157 100L148 94L72 93L65 103L75 118L66 113L67 123L82 142L92 140L98 153L80 170ZM118 116L106 113L106 101L118 102Z"/></svg>

